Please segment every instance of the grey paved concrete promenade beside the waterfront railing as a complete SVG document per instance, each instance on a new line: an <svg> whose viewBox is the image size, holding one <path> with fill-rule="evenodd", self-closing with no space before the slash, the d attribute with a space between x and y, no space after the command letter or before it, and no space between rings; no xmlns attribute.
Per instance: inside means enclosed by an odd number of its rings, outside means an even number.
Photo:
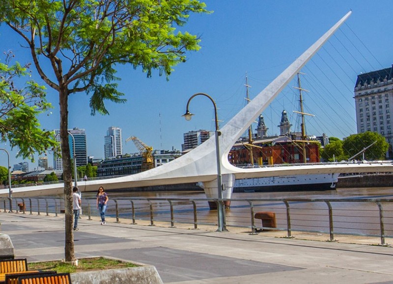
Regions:
<svg viewBox="0 0 393 284"><path fill-rule="evenodd" d="M15 257L64 258L63 215L1 212L0 222ZM83 216L74 232L76 257L152 264L164 283L393 283L392 247L129 223L101 226Z"/></svg>

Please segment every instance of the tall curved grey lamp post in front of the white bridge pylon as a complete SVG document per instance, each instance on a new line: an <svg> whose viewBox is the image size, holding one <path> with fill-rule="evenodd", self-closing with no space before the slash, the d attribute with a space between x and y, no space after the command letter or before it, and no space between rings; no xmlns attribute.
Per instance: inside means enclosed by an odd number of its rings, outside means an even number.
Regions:
<svg viewBox="0 0 393 284"><path fill-rule="evenodd" d="M225 222L224 222L224 218L225 218L225 213L224 213L224 206L223 206L223 183L222 183L222 177L221 177L221 158L220 158L220 142L219 142L219 136L221 135L221 132L219 130L219 126L218 126L218 117L217 117L217 105L214 102L213 98L210 97L207 94L204 93L197 93L191 96L191 98L188 100L187 102L187 106L186 106L186 113L183 114L182 116L184 116L184 118L186 120L191 120L192 116L194 114L192 114L188 107L190 105L190 102L193 98L195 98L196 96L205 96L207 97L214 106L214 120L216 123L216 130L215 130L215 138L216 138L216 158L217 158L217 190L218 190L218 230L219 232L224 232L226 231L225 229Z"/></svg>

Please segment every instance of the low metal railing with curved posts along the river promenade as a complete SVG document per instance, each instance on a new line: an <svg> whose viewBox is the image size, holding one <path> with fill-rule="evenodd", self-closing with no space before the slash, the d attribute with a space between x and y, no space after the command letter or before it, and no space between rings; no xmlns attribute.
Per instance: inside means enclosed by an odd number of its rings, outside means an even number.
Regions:
<svg viewBox="0 0 393 284"><path fill-rule="evenodd" d="M2 200L2 202L1 202ZM182 198L112 198L107 208L108 217L116 222L147 220L150 226L155 222L217 226L217 210L210 210L207 201L224 202L218 199ZM379 237L385 245L385 238L393 237L393 200L392 199L230 199L231 206L225 210L225 228L250 228L251 234L259 230L292 232L317 232L329 234L329 241L335 235L360 235ZM13 198L15 213L55 214L60 213L64 201L60 198ZM0 199L0 211L9 212L8 198ZM95 208L96 199L83 199L83 212L99 216ZM256 225L256 212L273 212L277 221L275 228ZM63 211L62 211L63 212ZM124 222L124 221L123 221Z"/></svg>

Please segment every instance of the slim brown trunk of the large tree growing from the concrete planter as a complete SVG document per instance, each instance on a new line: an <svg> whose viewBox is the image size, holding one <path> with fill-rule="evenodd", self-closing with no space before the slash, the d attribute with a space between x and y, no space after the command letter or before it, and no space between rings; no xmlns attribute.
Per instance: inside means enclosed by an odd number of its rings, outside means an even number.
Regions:
<svg viewBox="0 0 393 284"><path fill-rule="evenodd" d="M74 261L74 233L73 208L72 208L72 175L71 175L71 155L68 140L68 90L60 87L60 143L61 157L63 160L63 180L64 180L64 206L65 206L65 261Z"/></svg>

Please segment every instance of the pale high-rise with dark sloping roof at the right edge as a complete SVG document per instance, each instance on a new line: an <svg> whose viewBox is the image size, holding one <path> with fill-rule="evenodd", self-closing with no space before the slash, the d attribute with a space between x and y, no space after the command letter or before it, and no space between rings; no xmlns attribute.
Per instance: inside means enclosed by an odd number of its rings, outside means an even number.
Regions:
<svg viewBox="0 0 393 284"><path fill-rule="evenodd" d="M393 157L393 66L358 75L354 92L358 133L383 135L391 145L388 157Z"/></svg>

